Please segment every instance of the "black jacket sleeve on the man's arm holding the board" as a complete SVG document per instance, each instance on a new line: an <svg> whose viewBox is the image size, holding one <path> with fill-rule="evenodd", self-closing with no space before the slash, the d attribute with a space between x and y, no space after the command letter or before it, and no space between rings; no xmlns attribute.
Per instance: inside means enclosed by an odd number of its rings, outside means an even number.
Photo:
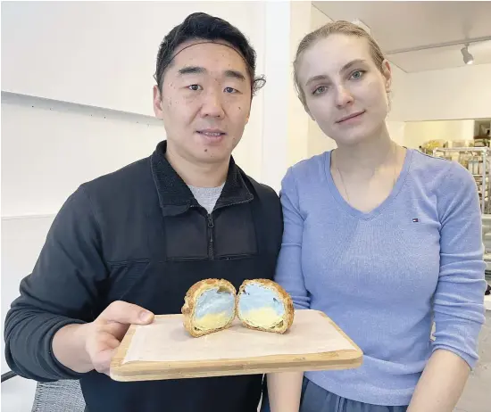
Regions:
<svg viewBox="0 0 491 412"><path fill-rule="evenodd" d="M54 357L52 341L62 326L93 320L105 276L96 218L81 186L54 218L5 318L5 359L13 372L40 382L80 377Z"/></svg>

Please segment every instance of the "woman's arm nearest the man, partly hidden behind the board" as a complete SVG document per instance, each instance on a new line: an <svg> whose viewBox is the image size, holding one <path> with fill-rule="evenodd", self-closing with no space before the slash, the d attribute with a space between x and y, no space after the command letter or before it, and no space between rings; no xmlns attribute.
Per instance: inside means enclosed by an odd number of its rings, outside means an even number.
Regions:
<svg viewBox="0 0 491 412"><path fill-rule="evenodd" d="M283 179L280 199L284 228L275 281L291 295L295 309L309 309L310 296L305 288L302 272L304 218L300 213L298 191L292 169L288 169ZM302 372L267 376L271 412L298 412L303 377Z"/></svg>

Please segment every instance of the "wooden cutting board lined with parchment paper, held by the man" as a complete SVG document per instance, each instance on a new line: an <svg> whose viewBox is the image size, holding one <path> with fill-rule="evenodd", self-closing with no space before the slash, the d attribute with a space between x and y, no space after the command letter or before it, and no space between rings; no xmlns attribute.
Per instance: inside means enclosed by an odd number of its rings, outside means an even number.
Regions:
<svg viewBox="0 0 491 412"><path fill-rule="evenodd" d="M194 338L182 315L156 316L152 325L131 325L110 375L121 382L287 371L350 369L362 350L324 313L296 310L285 334L245 328L236 319L226 330Z"/></svg>

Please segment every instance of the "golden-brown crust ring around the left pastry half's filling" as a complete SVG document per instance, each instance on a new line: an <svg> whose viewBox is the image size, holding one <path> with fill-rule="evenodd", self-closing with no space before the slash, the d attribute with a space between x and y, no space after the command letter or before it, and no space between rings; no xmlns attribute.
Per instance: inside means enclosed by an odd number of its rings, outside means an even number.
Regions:
<svg viewBox="0 0 491 412"><path fill-rule="evenodd" d="M234 307L234 314L230 318L229 323L227 325L223 325L219 328L201 330L195 327L194 318L195 318L195 309L196 309L196 301L200 297L202 293L209 289L213 289L218 287L219 290L226 290L229 293L234 295L234 298L237 296L237 290L233 284L231 284L228 280L225 279L204 279L193 284L186 293L184 298L184 305L181 308L181 313L184 317L183 324L186 328L187 332L198 338L200 336L204 336L205 334L213 334L214 332L221 331L223 329L227 329L232 325L232 322L237 316L237 304Z"/></svg>

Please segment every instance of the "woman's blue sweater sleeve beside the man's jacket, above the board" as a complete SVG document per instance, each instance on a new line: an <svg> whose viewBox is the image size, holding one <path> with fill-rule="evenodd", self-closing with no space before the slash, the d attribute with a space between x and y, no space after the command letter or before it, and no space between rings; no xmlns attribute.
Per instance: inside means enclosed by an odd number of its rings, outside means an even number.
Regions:
<svg viewBox="0 0 491 412"><path fill-rule="evenodd" d="M299 210L298 191L291 168L283 178L279 198L283 209L283 238L275 280L291 295L295 309L309 309L310 295L302 272L304 218Z"/></svg>

